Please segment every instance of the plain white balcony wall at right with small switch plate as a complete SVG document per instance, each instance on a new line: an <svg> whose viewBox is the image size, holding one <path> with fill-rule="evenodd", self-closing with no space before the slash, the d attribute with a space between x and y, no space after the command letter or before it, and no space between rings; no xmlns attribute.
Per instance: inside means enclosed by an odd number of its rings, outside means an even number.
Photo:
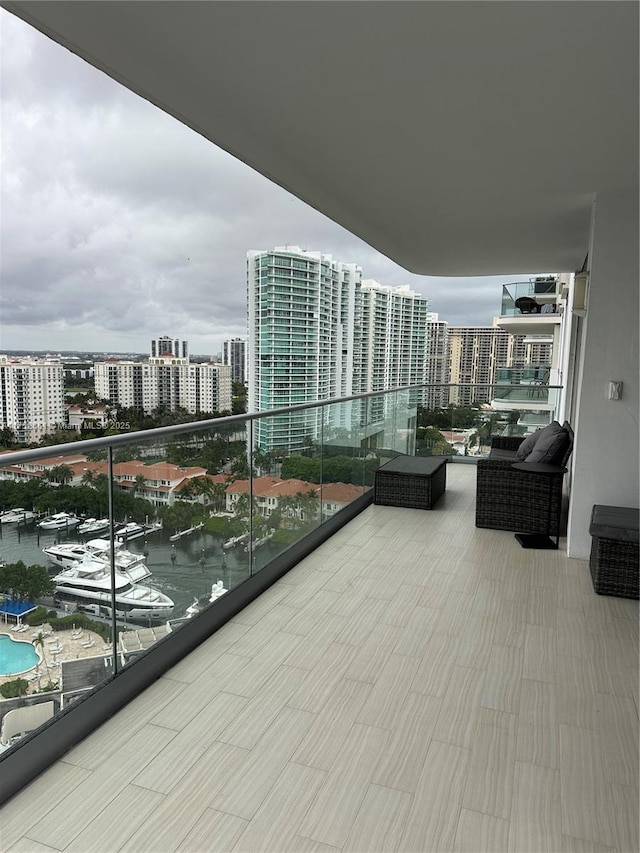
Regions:
<svg viewBox="0 0 640 853"><path fill-rule="evenodd" d="M598 196L569 418L576 443L567 547L569 556L581 559L591 548L594 504L639 505L638 225L637 191ZM607 399L609 380L624 382L622 399Z"/></svg>

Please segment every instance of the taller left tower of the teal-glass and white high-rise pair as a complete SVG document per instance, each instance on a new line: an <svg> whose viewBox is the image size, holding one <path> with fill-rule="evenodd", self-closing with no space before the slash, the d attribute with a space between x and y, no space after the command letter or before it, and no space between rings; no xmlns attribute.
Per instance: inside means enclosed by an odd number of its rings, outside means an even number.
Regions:
<svg viewBox="0 0 640 853"><path fill-rule="evenodd" d="M247 253L248 410L327 400L354 390L355 294L361 270L297 246ZM320 410L260 419L254 444L303 447Z"/></svg>

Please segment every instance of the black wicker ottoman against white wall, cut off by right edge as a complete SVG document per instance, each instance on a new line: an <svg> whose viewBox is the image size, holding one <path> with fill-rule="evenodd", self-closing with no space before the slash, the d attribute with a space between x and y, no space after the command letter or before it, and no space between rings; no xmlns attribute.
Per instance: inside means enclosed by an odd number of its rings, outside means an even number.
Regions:
<svg viewBox="0 0 640 853"><path fill-rule="evenodd" d="M639 517L629 507L594 506L589 568L598 595L638 598Z"/></svg>

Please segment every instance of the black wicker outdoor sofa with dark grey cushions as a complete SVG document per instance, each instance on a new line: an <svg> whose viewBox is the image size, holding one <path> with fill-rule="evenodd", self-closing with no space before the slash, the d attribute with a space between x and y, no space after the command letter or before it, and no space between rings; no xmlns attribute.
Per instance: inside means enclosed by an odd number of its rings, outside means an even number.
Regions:
<svg viewBox="0 0 640 853"><path fill-rule="evenodd" d="M566 421L562 428L554 424L557 430L565 431L565 438L556 442L555 457L540 461L563 468L573 449L573 430ZM534 446L534 436L526 440ZM522 436L493 436L489 457L478 460L476 527L557 537L560 535L563 478L522 470L524 465L514 468L514 463L523 462L529 456L523 459L522 451L517 455L521 445L527 446L524 441ZM531 459L532 463L534 461Z"/></svg>

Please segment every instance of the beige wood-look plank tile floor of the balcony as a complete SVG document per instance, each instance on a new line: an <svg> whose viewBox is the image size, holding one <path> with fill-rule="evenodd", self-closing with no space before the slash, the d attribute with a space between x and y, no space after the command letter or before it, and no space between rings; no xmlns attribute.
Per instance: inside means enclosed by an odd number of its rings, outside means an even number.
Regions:
<svg viewBox="0 0 640 853"><path fill-rule="evenodd" d="M638 606L371 506L0 810L7 853L638 849ZM102 839L102 840L101 840Z"/></svg>

